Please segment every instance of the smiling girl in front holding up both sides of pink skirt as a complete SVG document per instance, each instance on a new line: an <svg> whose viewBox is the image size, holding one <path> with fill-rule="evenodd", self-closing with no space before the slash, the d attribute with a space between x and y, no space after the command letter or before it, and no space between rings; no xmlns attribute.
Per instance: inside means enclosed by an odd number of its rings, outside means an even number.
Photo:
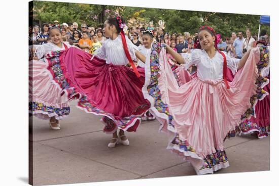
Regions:
<svg viewBox="0 0 279 186"><path fill-rule="evenodd" d="M201 49L185 58L164 45L185 69L192 64L197 66L197 77L182 86L172 73L165 49L154 43L147 56L150 61L146 61L149 69L143 92L161 129L175 134L168 149L189 160L197 174L205 174L229 166L224 148L227 133L249 117L255 100L265 95L254 97L258 87L258 48L239 60L218 51L213 28L201 27L198 38ZM233 72L238 69L232 82L227 81L227 67Z"/></svg>

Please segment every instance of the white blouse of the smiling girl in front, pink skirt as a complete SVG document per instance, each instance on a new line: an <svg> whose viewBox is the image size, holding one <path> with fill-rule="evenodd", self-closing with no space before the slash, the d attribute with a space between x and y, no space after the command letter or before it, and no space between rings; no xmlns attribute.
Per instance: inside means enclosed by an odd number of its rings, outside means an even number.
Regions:
<svg viewBox="0 0 279 186"><path fill-rule="evenodd" d="M226 53L224 54L227 59L227 67L235 74L240 59L231 58ZM185 60L185 64L183 64L185 69L193 64L198 67L197 76L200 79L223 79L224 58L219 52L216 52L215 56L210 58L204 50L194 49L192 53L183 53L182 57Z"/></svg>

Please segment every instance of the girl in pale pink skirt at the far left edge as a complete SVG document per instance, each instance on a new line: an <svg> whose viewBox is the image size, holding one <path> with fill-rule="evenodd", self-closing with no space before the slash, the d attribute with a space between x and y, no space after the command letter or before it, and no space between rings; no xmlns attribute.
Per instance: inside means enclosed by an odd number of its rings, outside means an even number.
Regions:
<svg viewBox="0 0 279 186"><path fill-rule="evenodd" d="M49 119L50 128L60 130L59 120L69 115L70 108L65 96L60 95L59 87L51 82L47 61L44 57L51 51L66 50L71 47L62 42L61 30L49 30L51 42L33 45L33 60L29 61L29 113L41 119Z"/></svg>

